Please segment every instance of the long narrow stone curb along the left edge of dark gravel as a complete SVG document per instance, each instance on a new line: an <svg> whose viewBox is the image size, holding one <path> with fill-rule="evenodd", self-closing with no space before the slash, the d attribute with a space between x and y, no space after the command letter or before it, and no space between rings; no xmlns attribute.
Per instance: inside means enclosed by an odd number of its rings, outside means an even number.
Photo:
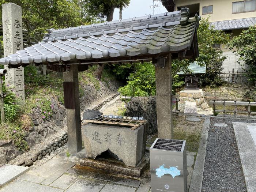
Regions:
<svg viewBox="0 0 256 192"><path fill-rule="evenodd" d="M189 192L201 192L204 174L204 161L206 156L206 145L208 139L208 130L210 127L210 115L204 119L204 127L202 130L199 148L197 151L196 162L192 174L192 179L189 187Z"/></svg>

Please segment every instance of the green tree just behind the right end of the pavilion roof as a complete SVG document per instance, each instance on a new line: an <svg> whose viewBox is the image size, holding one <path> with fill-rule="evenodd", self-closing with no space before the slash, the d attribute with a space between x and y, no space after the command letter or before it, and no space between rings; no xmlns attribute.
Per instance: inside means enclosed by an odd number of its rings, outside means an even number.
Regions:
<svg viewBox="0 0 256 192"><path fill-rule="evenodd" d="M229 42L230 35L220 30L214 30L214 27L210 26L209 19L202 19L197 29L199 57L196 61L198 65L206 66L206 74L200 76L199 85L215 87L222 84L219 73L223 69L222 62L226 57L222 55L223 51L214 48L214 45L226 44ZM175 76L179 71L190 73L188 66L191 62L191 59L173 60L172 75Z"/></svg>

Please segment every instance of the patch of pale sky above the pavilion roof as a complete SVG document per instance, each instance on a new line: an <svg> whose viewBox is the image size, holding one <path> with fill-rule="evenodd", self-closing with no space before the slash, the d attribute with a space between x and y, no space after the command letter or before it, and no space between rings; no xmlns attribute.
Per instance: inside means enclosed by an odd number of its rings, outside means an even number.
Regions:
<svg viewBox="0 0 256 192"><path fill-rule="evenodd" d="M163 7L160 0L155 1L155 4L158 4L159 7L155 7L155 14L166 12L165 7ZM122 18L128 19L133 17L140 17L149 14L153 14L153 9L150 8L150 5L153 5L153 0L131 0L129 7L123 10ZM119 19L119 9L114 10L113 20Z"/></svg>

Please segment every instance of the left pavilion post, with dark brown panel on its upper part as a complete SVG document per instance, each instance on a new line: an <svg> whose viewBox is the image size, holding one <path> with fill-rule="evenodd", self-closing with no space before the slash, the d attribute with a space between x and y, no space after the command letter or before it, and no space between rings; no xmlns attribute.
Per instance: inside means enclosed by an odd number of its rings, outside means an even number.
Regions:
<svg viewBox="0 0 256 192"><path fill-rule="evenodd" d="M68 151L72 154L82 150L78 65L71 65L70 71L63 73L63 78L68 127Z"/></svg>

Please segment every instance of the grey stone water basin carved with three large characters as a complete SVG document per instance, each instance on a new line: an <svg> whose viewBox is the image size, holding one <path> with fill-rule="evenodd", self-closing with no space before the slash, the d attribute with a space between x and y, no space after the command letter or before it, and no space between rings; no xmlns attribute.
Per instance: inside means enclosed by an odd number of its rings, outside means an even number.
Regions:
<svg viewBox="0 0 256 192"><path fill-rule="evenodd" d="M125 165L136 167L145 153L147 132L144 125L131 130L129 127L89 123L82 125L82 136L89 159L110 150Z"/></svg>

